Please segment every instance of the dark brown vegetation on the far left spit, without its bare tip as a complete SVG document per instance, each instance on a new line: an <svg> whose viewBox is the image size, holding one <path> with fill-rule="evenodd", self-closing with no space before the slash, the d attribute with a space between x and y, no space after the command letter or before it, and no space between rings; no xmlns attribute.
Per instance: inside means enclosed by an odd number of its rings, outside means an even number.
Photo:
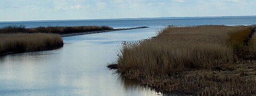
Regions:
<svg viewBox="0 0 256 96"><path fill-rule="evenodd" d="M0 28L0 34L7 33L53 33L53 34L67 34L79 33L86 31L111 30L108 26L75 26L75 27L36 27L26 28L25 26L7 26Z"/></svg>

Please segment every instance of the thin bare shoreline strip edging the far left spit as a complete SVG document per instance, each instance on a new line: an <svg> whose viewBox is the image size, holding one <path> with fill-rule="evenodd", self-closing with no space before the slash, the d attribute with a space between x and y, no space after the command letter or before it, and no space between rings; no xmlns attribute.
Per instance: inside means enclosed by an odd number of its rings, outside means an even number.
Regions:
<svg viewBox="0 0 256 96"><path fill-rule="evenodd" d="M60 35L61 37L69 37L69 36L77 36L77 35L85 35L85 34L107 33L110 31L133 30L133 29L143 29L143 28L149 28L149 27L142 26L142 27L132 27L132 28L117 28L117 29L110 29L110 30L86 31L86 32L68 33L68 34L60 34Z"/></svg>

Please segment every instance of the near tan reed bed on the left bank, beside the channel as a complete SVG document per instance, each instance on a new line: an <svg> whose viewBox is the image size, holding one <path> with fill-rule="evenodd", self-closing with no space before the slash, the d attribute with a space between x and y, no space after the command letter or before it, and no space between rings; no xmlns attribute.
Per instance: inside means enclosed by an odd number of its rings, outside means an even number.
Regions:
<svg viewBox="0 0 256 96"><path fill-rule="evenodd" d="M63 46L57 34L0 34L0 55L58 49Z"/></svg>

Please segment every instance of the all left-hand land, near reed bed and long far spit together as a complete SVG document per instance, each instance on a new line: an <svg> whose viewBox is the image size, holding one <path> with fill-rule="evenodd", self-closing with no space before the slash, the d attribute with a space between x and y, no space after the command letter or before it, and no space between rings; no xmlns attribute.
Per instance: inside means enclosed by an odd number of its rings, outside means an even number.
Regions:
<svg viewBox="0 0 256 96"><path fill-rule="evenodd" d="M6 54L53 50L63 47L61 37L106 33L109 31L148 28L119 28L108 26L36 27L7 26L0 28L0 56Z"/></svg>

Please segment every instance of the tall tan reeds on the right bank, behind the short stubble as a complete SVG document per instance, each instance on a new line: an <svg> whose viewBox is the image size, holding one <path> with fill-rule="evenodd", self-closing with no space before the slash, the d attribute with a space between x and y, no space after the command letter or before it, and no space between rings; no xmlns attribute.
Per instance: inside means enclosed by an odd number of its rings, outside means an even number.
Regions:
<svg viewBox="0 0 256 96"><path fill-rule="evenodd" d="M241 28L168 27L155 38L124 43L119 68L124 73L127 69L141 69L147 75L167 75L186 68L211 69L232 63L235 55L227 44L229 34Z"/></svg>

